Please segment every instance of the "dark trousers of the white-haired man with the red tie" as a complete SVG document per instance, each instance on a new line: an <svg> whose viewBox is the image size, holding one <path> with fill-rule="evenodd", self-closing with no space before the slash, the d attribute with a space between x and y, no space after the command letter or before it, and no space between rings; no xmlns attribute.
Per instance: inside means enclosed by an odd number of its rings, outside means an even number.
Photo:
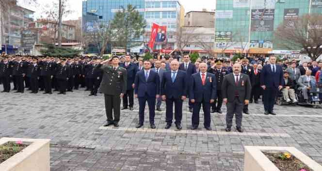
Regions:
<svg viewBox="0 0 322 171"><path fill-rule="evenodd" d="M199 101L194 102L193 105L193 116L192 125L198 127L199 125L199 112L202 104L202 109L204 111L204 127L210 127L211 117L210 117L210 102L209 101Z"/></svg>

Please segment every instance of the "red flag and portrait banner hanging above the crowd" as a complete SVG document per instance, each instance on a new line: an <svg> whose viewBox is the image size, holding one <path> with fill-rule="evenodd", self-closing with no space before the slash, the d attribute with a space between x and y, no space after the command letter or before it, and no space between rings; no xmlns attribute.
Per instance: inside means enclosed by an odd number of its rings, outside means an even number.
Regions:
<svg viewBox="0 0 322 171"><path fill-rule="evenodd" d="M153 50L154 44L164 43L167 43L167 27L153 23L148 46Z"/></svg>

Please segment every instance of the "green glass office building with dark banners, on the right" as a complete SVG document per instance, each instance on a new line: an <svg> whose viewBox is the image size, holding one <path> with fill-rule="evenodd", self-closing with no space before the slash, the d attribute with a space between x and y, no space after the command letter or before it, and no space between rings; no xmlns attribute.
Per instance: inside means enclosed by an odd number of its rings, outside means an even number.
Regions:
<svg viewBox="0 0 322 171"><path fill-rule="evenodd" d="M274 30L303 14L322 13L322 0L217 0L215 51L270 54L284 51L275 44Z"/></svg>

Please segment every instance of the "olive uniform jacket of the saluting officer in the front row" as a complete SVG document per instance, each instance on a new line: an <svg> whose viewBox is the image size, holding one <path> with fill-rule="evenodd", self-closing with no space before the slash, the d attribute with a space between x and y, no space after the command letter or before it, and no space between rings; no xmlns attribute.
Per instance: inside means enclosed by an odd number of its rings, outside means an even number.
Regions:
<svg viewBox="0 0 322 171"><path fill-rule="evenodd" d="M98 91L107 95L120 95L126 93L127 71L118 67L116 70L112 66L103 65L103 79Z"/></svg>

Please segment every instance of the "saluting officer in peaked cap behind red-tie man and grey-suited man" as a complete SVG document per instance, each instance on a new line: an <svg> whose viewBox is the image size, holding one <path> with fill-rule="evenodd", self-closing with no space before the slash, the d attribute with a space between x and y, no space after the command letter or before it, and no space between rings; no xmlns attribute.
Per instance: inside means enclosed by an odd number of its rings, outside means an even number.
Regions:
<svg viewBox="0 0 322 171"><path fill-rule="evenodd" d="M211 61L211 68L208 70L208 72L215 74L216 78L216 85L217 85L217 98L215 99L214 103L211 103L211 113L219 113L222 114L221 107L223 104L223 97L222 97L222 83L224 80L224 77L226 74L228 74L228 71L223 68L223 63L220 60L217 60L216 63L214 61ZM216 106L217 104L217 106Z"/></svg>

